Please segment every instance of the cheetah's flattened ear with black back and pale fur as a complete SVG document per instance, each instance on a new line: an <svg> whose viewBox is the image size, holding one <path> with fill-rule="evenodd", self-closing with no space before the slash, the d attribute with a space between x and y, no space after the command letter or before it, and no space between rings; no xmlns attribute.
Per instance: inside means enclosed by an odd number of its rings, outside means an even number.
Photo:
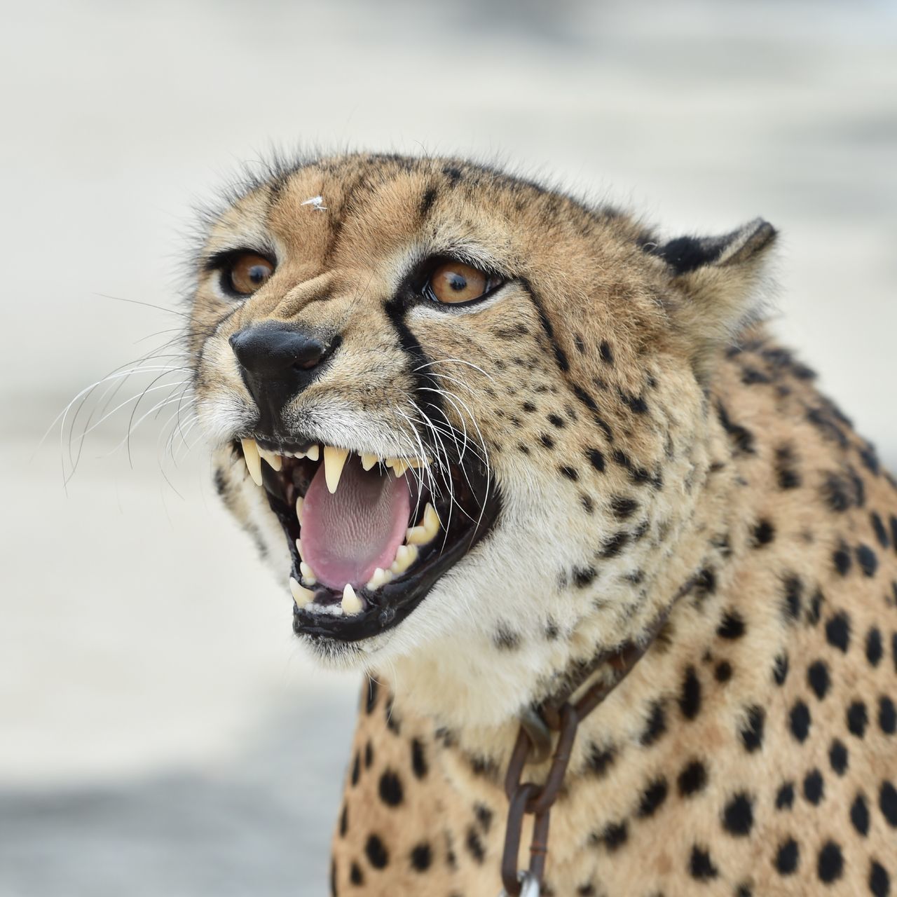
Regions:
<svg viewBox="0 0 897 897"><path fill-rule="evenodd" d="M762 316L767 257L777 236L762 218L722 237L679 237L653 250L683 299L670 313L689 337L699 379L720 345Z"/></svg>

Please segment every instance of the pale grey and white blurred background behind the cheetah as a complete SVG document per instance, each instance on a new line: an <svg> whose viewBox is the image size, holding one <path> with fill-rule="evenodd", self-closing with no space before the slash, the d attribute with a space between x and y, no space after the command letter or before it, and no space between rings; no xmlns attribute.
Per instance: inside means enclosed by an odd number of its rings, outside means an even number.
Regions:
<svg viewBox="0 0 897 897"><path fill-rule="evenodd" d="M508 161L672 235L763 215L776 329L897 467L892 0L2 6L3 897L326 893L358 683L293 644L188 410L131 417L172 350L54 423L177 336L192 206L272 146Z"/></svg>

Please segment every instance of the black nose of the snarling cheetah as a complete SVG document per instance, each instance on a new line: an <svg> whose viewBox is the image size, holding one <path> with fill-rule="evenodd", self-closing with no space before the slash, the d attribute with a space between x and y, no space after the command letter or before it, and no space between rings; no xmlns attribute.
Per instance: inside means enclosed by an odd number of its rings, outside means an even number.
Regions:
<svg viewBox="0 0 897 897"><path fill-rule="evenodd" d="M240 330L231 336L231 347L258 405L258 429L279 435L283 405L318 376L328 347L316 336L279 323Z"/></svg>

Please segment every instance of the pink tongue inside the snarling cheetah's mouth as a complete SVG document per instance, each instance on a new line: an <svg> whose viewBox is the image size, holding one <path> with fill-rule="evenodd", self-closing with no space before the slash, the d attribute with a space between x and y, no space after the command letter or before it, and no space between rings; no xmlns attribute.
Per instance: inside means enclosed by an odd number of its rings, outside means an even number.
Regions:
<svg viewBox="0 0 897 897"><path fill-rule="evenodd" d="M350 455L331 495L321 464L302 505L302 560L328 588L364 586L377 567L388 570L395 559L410 510L405 477L378 467L365 471L361 458Z"/></svg>

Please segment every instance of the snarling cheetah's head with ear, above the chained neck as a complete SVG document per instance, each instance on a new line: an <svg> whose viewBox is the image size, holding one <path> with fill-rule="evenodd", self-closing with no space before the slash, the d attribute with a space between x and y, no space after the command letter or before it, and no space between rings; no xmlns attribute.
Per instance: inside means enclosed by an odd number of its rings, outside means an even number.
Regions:
<svg viewBox="0 0 897 897"><path fill-rule="evenodd" d="M712 359L770 225L662 244L495 170L371 155L269 170L206 225L216 484L319 658L510 706L638 635L687 566Z"/></svg>

